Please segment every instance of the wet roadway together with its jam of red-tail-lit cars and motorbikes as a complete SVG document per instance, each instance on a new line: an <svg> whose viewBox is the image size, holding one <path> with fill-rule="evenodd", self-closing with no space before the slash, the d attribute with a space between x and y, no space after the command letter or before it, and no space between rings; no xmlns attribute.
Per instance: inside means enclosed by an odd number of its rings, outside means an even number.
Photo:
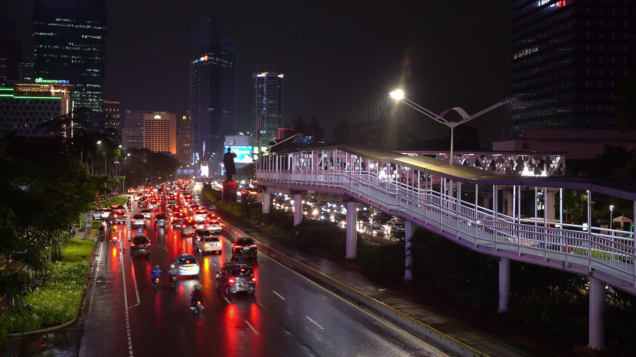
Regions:
<svg viewBox="0 0 636 357"><path fill-rule="evenodd" d="M446 356L259 252L201 189L135 187L95 217L81 356Z"/></svg>

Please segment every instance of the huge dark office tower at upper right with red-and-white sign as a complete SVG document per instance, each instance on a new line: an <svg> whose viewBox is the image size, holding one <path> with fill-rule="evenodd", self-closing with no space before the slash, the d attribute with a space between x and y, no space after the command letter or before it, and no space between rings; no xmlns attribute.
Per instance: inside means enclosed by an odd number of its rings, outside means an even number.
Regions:
<svg viewBox="0 0 636 357"><path fill-rule="evenodd" d="M513 0L512 129L614 128L635 0Z"/></svg>

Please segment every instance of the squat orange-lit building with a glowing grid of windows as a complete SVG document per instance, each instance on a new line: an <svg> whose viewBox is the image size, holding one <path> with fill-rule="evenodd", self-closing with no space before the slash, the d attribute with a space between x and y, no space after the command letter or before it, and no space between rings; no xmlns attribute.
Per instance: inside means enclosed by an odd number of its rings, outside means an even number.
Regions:
<svg viewBox="0 0 636 357"><path fill-rule="evenodd" d="M144 114L144 149L163 154L177 154L177 114Z"/></svg>

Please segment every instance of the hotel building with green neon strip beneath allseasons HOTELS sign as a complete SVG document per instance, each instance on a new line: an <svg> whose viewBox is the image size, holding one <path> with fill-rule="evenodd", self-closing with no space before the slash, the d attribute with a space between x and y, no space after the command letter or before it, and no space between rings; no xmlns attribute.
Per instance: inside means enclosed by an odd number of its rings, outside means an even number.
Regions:
<svg viewBox="0 0 636 357"><path fill-rule="evenodd" d="M71 100L69 84L0 84L0 133L15 131L20 137L48 135L36 127L69 114Z"/></svg>

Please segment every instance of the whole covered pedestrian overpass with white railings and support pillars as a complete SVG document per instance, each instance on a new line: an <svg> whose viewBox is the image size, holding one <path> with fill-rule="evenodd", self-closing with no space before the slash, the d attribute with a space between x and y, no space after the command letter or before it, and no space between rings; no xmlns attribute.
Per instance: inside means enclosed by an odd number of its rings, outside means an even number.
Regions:
<svg viewBox="0 0 636 357"><path fill-rule="evenodd" d="M633 233L594 226L591 217L595 194L628 199L636 213L632 187L578 178L497 175L427 156L350 145L273 152L254 165L260 185L294 193L294 224L301 222L301 199L307 191L345 197L347 258L356 255L359 203L403 218L405 280L411 279L413 224L499 259L501 311L508 310L510 259L589 276L591 348L604 346L605 285L636 295ZM564 189L586 191L587 222L563 222ZM268 210L269 199L265 201L263 210ZM540 210L533 202L555 207L558 219L551 209L538 218ZM533 217L522 215L524 204L534 206Z"/></svg>

